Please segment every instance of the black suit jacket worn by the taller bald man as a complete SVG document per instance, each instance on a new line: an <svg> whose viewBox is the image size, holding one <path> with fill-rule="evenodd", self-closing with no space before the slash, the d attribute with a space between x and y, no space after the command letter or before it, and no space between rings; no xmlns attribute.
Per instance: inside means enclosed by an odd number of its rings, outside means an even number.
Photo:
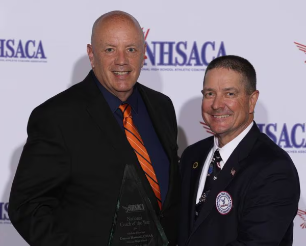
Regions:
<svg viewBox="0 0 306 246"><path fill-rule="evenodd" d="M127 163L136 168L170 245L176 243L180 178L175 112L167 96L138 88L170 160L162 211L89 73L30 116L9 201L11 222L30 245L107 245Z"/></svg>

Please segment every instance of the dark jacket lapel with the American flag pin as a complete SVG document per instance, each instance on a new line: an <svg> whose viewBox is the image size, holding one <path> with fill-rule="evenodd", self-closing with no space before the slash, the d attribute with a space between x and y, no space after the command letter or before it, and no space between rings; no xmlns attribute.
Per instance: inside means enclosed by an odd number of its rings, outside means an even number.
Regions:
<svg viewBox="0 0 306 246"><path fill-rule="evenodd" d="M249 152L251 151L254 143L257 141L259 133L260 130L254 122L254 125L252 126L250 131L238 144L236 149L231 154L230 158L228 158L228 160L226 161L221 172L219 173L218 179L209 194L209 199L207 199L207 201L202 206L197 221L194 224L192 233L203 223L203 221L205 221L209 213L212 211L216 203L217 195L222 190L225 190L226 187L231 183L231 181L237 176L237 173L239 173L239 170L242 168L240 162L249 155ZM235 171L234 175L231 172L232 170L233 172ZM235 206L234 202L233 205Z"/></svg>

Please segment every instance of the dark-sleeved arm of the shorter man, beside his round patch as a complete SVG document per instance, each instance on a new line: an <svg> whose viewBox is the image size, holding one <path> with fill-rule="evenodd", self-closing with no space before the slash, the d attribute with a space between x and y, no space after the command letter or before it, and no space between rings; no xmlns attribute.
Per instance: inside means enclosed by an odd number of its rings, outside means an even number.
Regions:
<svg viewBox="0 0 306 246"><path fill-rule="evenodd" d="M293 229L299 195L293 163L288 159L267 163L248 189L240 213L238 238L227 245L279 245L286 232Z"/></svg>

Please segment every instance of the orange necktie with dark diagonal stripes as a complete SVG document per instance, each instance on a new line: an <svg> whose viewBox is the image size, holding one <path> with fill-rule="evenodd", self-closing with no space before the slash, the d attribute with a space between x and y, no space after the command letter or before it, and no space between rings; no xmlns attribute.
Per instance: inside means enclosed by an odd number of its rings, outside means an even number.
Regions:
<svg viewBox="0 0 306 246"><path fill-rule="evenodd" d="M161 191L157 181L157 177L154 172L154 168L151 164L150 157L144 143L141 139L141 136L133 123L132 119L132 108L131 105L124 103L119 106L120 110L123 113L123 127L126 134L127 140L130 142L132 148L134 149L140 166L142 167L154 193L157 198L158 205L162 209L162 200L161 200Z"/></svg>

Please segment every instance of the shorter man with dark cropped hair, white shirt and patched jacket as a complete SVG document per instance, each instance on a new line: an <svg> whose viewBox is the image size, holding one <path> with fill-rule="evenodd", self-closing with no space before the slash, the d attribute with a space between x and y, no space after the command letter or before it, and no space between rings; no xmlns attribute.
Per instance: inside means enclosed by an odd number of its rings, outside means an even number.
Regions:
<svg viewBox="0 0 306 246"><path fill-rule="evenodd" d="M237 56L216 58L202 94L202 117L215 136L182 154L179 245L292 245L298 174L253 121L253 66Z"/></svg>

